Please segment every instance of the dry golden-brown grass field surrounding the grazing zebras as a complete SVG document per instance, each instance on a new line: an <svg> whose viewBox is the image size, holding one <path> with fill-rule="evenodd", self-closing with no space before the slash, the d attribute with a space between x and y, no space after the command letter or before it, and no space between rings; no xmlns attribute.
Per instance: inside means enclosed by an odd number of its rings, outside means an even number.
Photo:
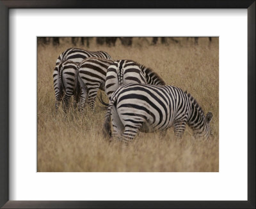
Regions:
<svg viewBox="0 0 256 209"><path fill-rule="evenodd" d="M124 146L109 143L102 135L105 110L97 99L95 112L83 114L72 108L67 117L60 107L54 116L52 73L58 56L74 47L71 38L59 46L38 45L38 171L218 171L219 170L219 44L218 38L176 38L179 43L148 44L134 38L132 47L119 41L115 47L96 45L77 48L108 52L113 59L132 59L156 71L168 85L188 90L202 106L211 111L212 136L208 141L193 138L189 127L182 140L175 140L173 128L164 138L161 133L139 133ZM98 92L99 93L99 92ZM104 94L104 92L102 92ZM104 100L107 97L104 96Z"/></svg>

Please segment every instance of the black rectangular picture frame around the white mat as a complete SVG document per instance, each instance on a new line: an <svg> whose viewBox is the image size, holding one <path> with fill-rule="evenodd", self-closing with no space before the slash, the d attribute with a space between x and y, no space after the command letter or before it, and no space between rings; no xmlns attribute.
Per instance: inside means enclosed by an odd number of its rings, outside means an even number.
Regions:
<svg viewBox="0 0 256 209"><path fill-rule="evenodd" d="M9 201L10 8L246 8L248 10L248 201ZM3 208L255 208L255 0L0 0L0 206ZM239 124L234 124L239 126ZM236 184L236 182L234 182Z"/></svg>

